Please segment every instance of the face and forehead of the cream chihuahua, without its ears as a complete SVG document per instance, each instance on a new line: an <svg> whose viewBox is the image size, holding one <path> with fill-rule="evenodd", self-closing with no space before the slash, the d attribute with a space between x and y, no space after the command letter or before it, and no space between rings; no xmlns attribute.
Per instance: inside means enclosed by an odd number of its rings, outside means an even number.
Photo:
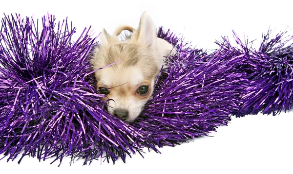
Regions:
<svg viewBox="0 0 293 174"><path fill-rule="evenodd" d="M98 90L105 94L108 111L127 122L134 121L149 100L157 75L157 66L148 48L135 44L120 43L101 48L95 66L120 61L98 70Z"/></svg>

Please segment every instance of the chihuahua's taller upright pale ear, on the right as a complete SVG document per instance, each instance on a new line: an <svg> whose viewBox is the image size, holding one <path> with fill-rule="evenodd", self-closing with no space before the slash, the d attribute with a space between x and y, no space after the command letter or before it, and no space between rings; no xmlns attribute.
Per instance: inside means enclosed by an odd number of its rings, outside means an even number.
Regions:
<svg viewBox="0 0 293 174"><path fill-rule="evenodd" d="M138 28L138 41L146 46L153 46L157 40L157 30L147 12L141 16Z"/></svg>

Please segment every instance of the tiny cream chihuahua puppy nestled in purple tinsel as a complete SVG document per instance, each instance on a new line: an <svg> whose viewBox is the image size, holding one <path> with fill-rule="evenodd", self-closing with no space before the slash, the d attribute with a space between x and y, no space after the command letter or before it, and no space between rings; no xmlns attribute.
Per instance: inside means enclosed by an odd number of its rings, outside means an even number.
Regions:
<svg viewBox="0 0 293 174"><path fill-rule="evenodd" d="M118 35L124 30L132 32L124 41ZM167 68L165 59L174 54L173 46L157 37L152 19L144 12L139 27L119 27L114 35L104 29L101 44L92 57L97 87L107 101L110 114L126 122L133 122L151 99L154 83L160 70Z"/></svg>

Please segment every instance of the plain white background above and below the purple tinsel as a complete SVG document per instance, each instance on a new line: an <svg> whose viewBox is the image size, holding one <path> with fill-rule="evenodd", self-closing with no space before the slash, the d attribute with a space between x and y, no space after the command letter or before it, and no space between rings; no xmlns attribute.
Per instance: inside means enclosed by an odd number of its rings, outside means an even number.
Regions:
<svg viewBox="0 0 293 174"><path fill-rule="evenodd" d="M22 17L42 17L47 12L58 20L65 17L81 32L92 26L98 34L102 28L113 32L120 24L138 26L140 15L148 11L157 26L163 25L184 34L197 48L214 49L221 35L232 40L231 30L243 39L257 39L271 26L276 33L289 26L293 35L292 0L1 0L0 12L19 13ZM0 14L0 17L4 17ZM195 139L176 147L164 147L162 154L150 152L145 159L139 154L112 163L93 162L82 166L82 160L71 167L65 158L61 167L51 159L39 162L24 157L16 161L0 161L0 173L81 174L81 173L161 173L161 174L293 174L293 112L278 116L256 115L234 118L229 126L220 127L213 137ZM146 150L147 152L147 150ZM2 157L2 155L0 156Z"/></svg>

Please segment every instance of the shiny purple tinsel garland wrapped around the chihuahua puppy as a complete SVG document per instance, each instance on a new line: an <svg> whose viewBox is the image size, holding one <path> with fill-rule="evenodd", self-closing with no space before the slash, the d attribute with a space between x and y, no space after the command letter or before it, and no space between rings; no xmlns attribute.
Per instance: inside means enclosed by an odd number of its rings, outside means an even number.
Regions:
<svg viewBox="0 0 293 174"><path fill-rule="evenodd" d="M293 46L284 33L265 35L258 51L228 39L213 52L192 49L169 30L158 36L175 45L153 99L130 125L103 108L90 70L89 29L72 40L67 20L5 16L0 30L0 154L123 161L143 147L158 151L207 136L230 116L276 114L293 104ZM288 41L292 39L289 38ZM142 155L142 154L141 154ZM21 159L19 162L21 162ZM54 160L54 161L55 161ZM53 162L54 162L53 161Z"/></svg>

